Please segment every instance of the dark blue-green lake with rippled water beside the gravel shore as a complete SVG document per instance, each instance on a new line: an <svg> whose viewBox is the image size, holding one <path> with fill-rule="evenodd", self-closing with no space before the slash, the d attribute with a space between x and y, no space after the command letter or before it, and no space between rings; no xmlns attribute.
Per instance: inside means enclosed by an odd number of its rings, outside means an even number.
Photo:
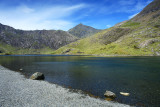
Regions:
<svg viewBox="0 0 160 107"><path fill-rule="evenodd" d="M100 98L105 98L104 92L110 90L120 103L160 106L160 57L11 55L0 56L0 64L14 71L23 69L27 78L42 72L46 81Z"/></svg>

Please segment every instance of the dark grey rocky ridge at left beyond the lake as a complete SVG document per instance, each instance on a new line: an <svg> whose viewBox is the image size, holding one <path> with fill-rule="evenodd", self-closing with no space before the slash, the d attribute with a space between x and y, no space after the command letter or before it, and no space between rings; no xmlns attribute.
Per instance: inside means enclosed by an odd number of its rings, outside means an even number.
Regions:
<svg viewBox="0 0 160 107"><path fill-rule="evenodd" d="M7 48L4 47L10 47L10 49L18 48L18 50L38 50L43 48L55 50L76 40L77 37L62 30L23 31L0 24L1 53L7 50ZM8 49L7 52L12 51Z"/></svg>

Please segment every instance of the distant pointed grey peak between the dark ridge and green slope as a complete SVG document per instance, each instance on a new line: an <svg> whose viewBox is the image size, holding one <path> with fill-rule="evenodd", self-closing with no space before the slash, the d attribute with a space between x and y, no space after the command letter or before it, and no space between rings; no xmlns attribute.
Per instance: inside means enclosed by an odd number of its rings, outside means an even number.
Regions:
<svg viewBox="0 0 160 107"><path fill-rule="evenodd" d="M78 38L85 38L88 36L91 36L97 32L99 32L101 30L95 29L93 27L90 26L86 26L83 24L79 24L75 27L73 27L72 29L70 29L68 32Z"/></svg>

